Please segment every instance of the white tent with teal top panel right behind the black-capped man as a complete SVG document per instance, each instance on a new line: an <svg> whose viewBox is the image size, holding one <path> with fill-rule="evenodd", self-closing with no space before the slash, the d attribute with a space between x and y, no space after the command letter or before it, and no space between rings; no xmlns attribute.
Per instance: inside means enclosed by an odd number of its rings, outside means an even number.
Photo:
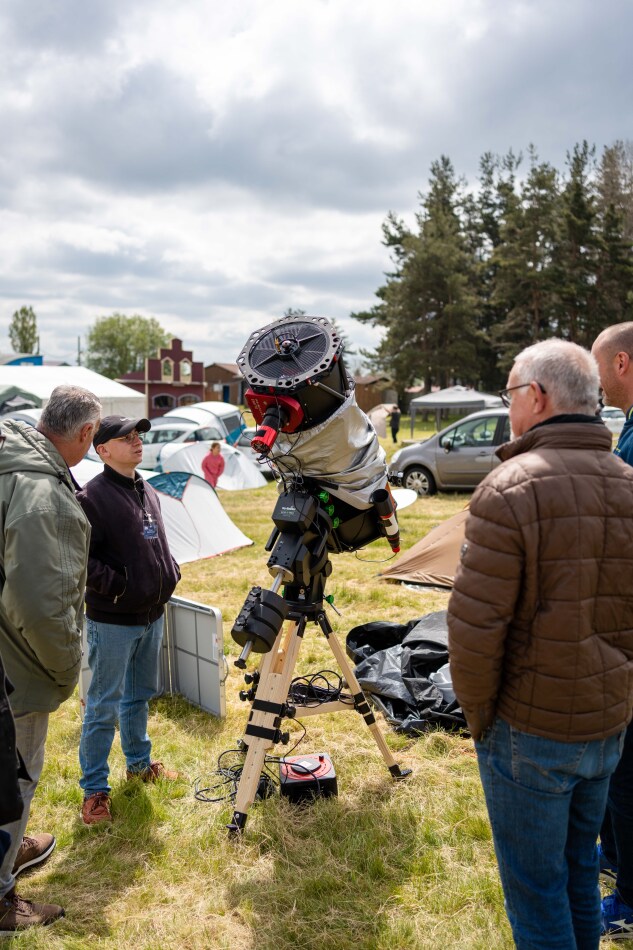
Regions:
<svg viewBox="0 0 633 950"><path fill-rule="evenodd" d="M102 471L103 464L90 458L72 468L81 486ZM167 540L179 564L226 554L253 543L233 524L204 479L189 472L158 475L141 471L141 474L160 495Z"/></svg>

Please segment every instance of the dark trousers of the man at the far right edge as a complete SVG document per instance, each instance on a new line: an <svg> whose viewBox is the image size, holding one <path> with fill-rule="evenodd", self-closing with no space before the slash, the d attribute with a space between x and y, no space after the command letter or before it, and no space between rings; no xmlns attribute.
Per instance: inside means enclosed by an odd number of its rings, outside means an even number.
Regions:
<svg viewBox="0 0 633 950"><path fill-rule="evenodd" d="M617 892L633 907L633 723L626 730L622 758L609 782L600 841L607 859L618 869Z"/></svg>

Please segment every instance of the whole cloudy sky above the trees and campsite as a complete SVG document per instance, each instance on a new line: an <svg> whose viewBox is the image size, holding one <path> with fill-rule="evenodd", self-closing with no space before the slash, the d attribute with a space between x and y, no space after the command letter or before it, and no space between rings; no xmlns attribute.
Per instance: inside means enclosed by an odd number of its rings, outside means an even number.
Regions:
<svg viewBox="0 0 633 950"><path fill-rule="evenodd" d="M633 139L631 0L3 0L0 352L155 316L205 363L288 307L349 320L430 163Z"/></svg>

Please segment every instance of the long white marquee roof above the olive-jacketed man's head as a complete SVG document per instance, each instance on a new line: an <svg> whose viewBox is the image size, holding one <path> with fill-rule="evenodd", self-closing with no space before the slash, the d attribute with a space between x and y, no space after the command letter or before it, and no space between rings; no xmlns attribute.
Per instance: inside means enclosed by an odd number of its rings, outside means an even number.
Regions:
<svg viewBox="0 0 633 950"><path fill-rule="evenodd" d="M103 415L121 415L134 418L146 415L145 396L129 386L115 383L107 376L93 373L85 366L1 366L0 389L15 387L16 391L34 396L39 406L45 406L56 386L81 386L101 400Z"/></svg>

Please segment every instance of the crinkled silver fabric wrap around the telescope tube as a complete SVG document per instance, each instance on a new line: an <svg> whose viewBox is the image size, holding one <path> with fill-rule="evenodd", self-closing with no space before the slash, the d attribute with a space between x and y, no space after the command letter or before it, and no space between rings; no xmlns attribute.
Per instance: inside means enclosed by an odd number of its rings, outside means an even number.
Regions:
<svg viewBox="0 0 633 950"><path fill-rule="evenodd" d="M369 500L387 480L385 452L376 430L350 393L333 415L303 432L280 432L271 458L281 472L313 478L354 508Z"/></svg>

